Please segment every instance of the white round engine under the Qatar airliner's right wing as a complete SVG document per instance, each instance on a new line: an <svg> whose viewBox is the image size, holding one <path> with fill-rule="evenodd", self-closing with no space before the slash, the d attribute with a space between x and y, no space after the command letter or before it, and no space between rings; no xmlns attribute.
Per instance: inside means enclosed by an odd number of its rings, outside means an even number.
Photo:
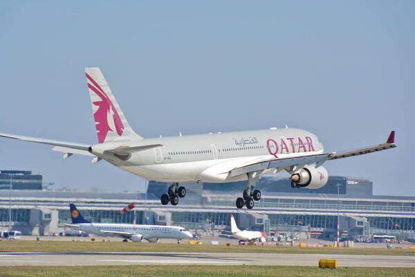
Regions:
<svg viewBox="0 0 415 277"><path fill-rule="evenodd" d="M329 173L322 166L307 166L290 177L291 182L300 188L322 188L329 181Z"/></svg>

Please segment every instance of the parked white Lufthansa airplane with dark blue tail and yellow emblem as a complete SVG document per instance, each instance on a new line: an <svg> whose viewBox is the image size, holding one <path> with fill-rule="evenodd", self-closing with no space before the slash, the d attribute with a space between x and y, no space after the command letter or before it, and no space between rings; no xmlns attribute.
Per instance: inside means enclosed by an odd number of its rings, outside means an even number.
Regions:
<svg viewBox="0 0 415 277"><path fill-rule="evenodd" d="M187 229L180 226L92 223L84 219L75 204L69 204L69 207L71 208L72 224L65 224L65 226L94 235L120 237L124 239L123 242L127 242L127 240L158 242L160 238L173 238L179 241L193 237Z"/></svg>

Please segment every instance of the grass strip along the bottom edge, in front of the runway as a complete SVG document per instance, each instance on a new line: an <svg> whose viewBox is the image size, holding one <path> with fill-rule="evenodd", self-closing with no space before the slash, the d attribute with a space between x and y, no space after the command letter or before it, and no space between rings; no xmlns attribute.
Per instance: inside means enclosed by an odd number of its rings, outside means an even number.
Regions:
<svg viewBox="0 0 415 277"><path fill-rule="evenodd" d="M80 267L0 267L0 276L37 277L37 276L414 276L414 268L385 267L341 267L338 269L320 269L318 267L286 266L214 266L214 265L127 265L127 266L80 266Z"/></svg>

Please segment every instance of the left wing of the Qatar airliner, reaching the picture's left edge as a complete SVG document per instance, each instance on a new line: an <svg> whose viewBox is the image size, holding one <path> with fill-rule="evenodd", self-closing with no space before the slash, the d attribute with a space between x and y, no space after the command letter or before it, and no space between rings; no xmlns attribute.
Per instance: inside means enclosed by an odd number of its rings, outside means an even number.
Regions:
<svg viewBox="0 0 415 277"><path fill-rule="evenodd" d="M14 134L0 133L0 136L3 136L5 138L10 138L10 139L19 139L21 141L29 141L31 143L42 143L42 144L47 144L47 145L54 145L55 148L53 148L53 150L55 151L94 156L93 154L88 152L89 145L86 145L86 144L68 143L66 141L52 141L48 139L37 139L37 138L32 138L30 136L17 136Z"/></svg>

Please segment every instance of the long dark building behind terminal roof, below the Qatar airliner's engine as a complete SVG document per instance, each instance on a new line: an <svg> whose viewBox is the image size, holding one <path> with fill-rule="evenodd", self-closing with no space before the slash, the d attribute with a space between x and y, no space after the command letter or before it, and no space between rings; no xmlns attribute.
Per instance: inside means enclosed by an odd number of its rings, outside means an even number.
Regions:
<svg viewBox="0 0 415 277"><path fill-rule="evenodd" d="M282 179L275 177L275 175L264 175L259 179L255 189L264 192L273 193L319 193L319 194L333 194L338 193L338 186L340 184L339 193L341 195L373 195L373 182L365 178L330 176L326 186L311 190L308 188L291 188L291 180L288 178ZM246 188L247 181L225 183L225 184L210 184L204 183L203 190L214 190L223 192L240 192Z"/></svg>

